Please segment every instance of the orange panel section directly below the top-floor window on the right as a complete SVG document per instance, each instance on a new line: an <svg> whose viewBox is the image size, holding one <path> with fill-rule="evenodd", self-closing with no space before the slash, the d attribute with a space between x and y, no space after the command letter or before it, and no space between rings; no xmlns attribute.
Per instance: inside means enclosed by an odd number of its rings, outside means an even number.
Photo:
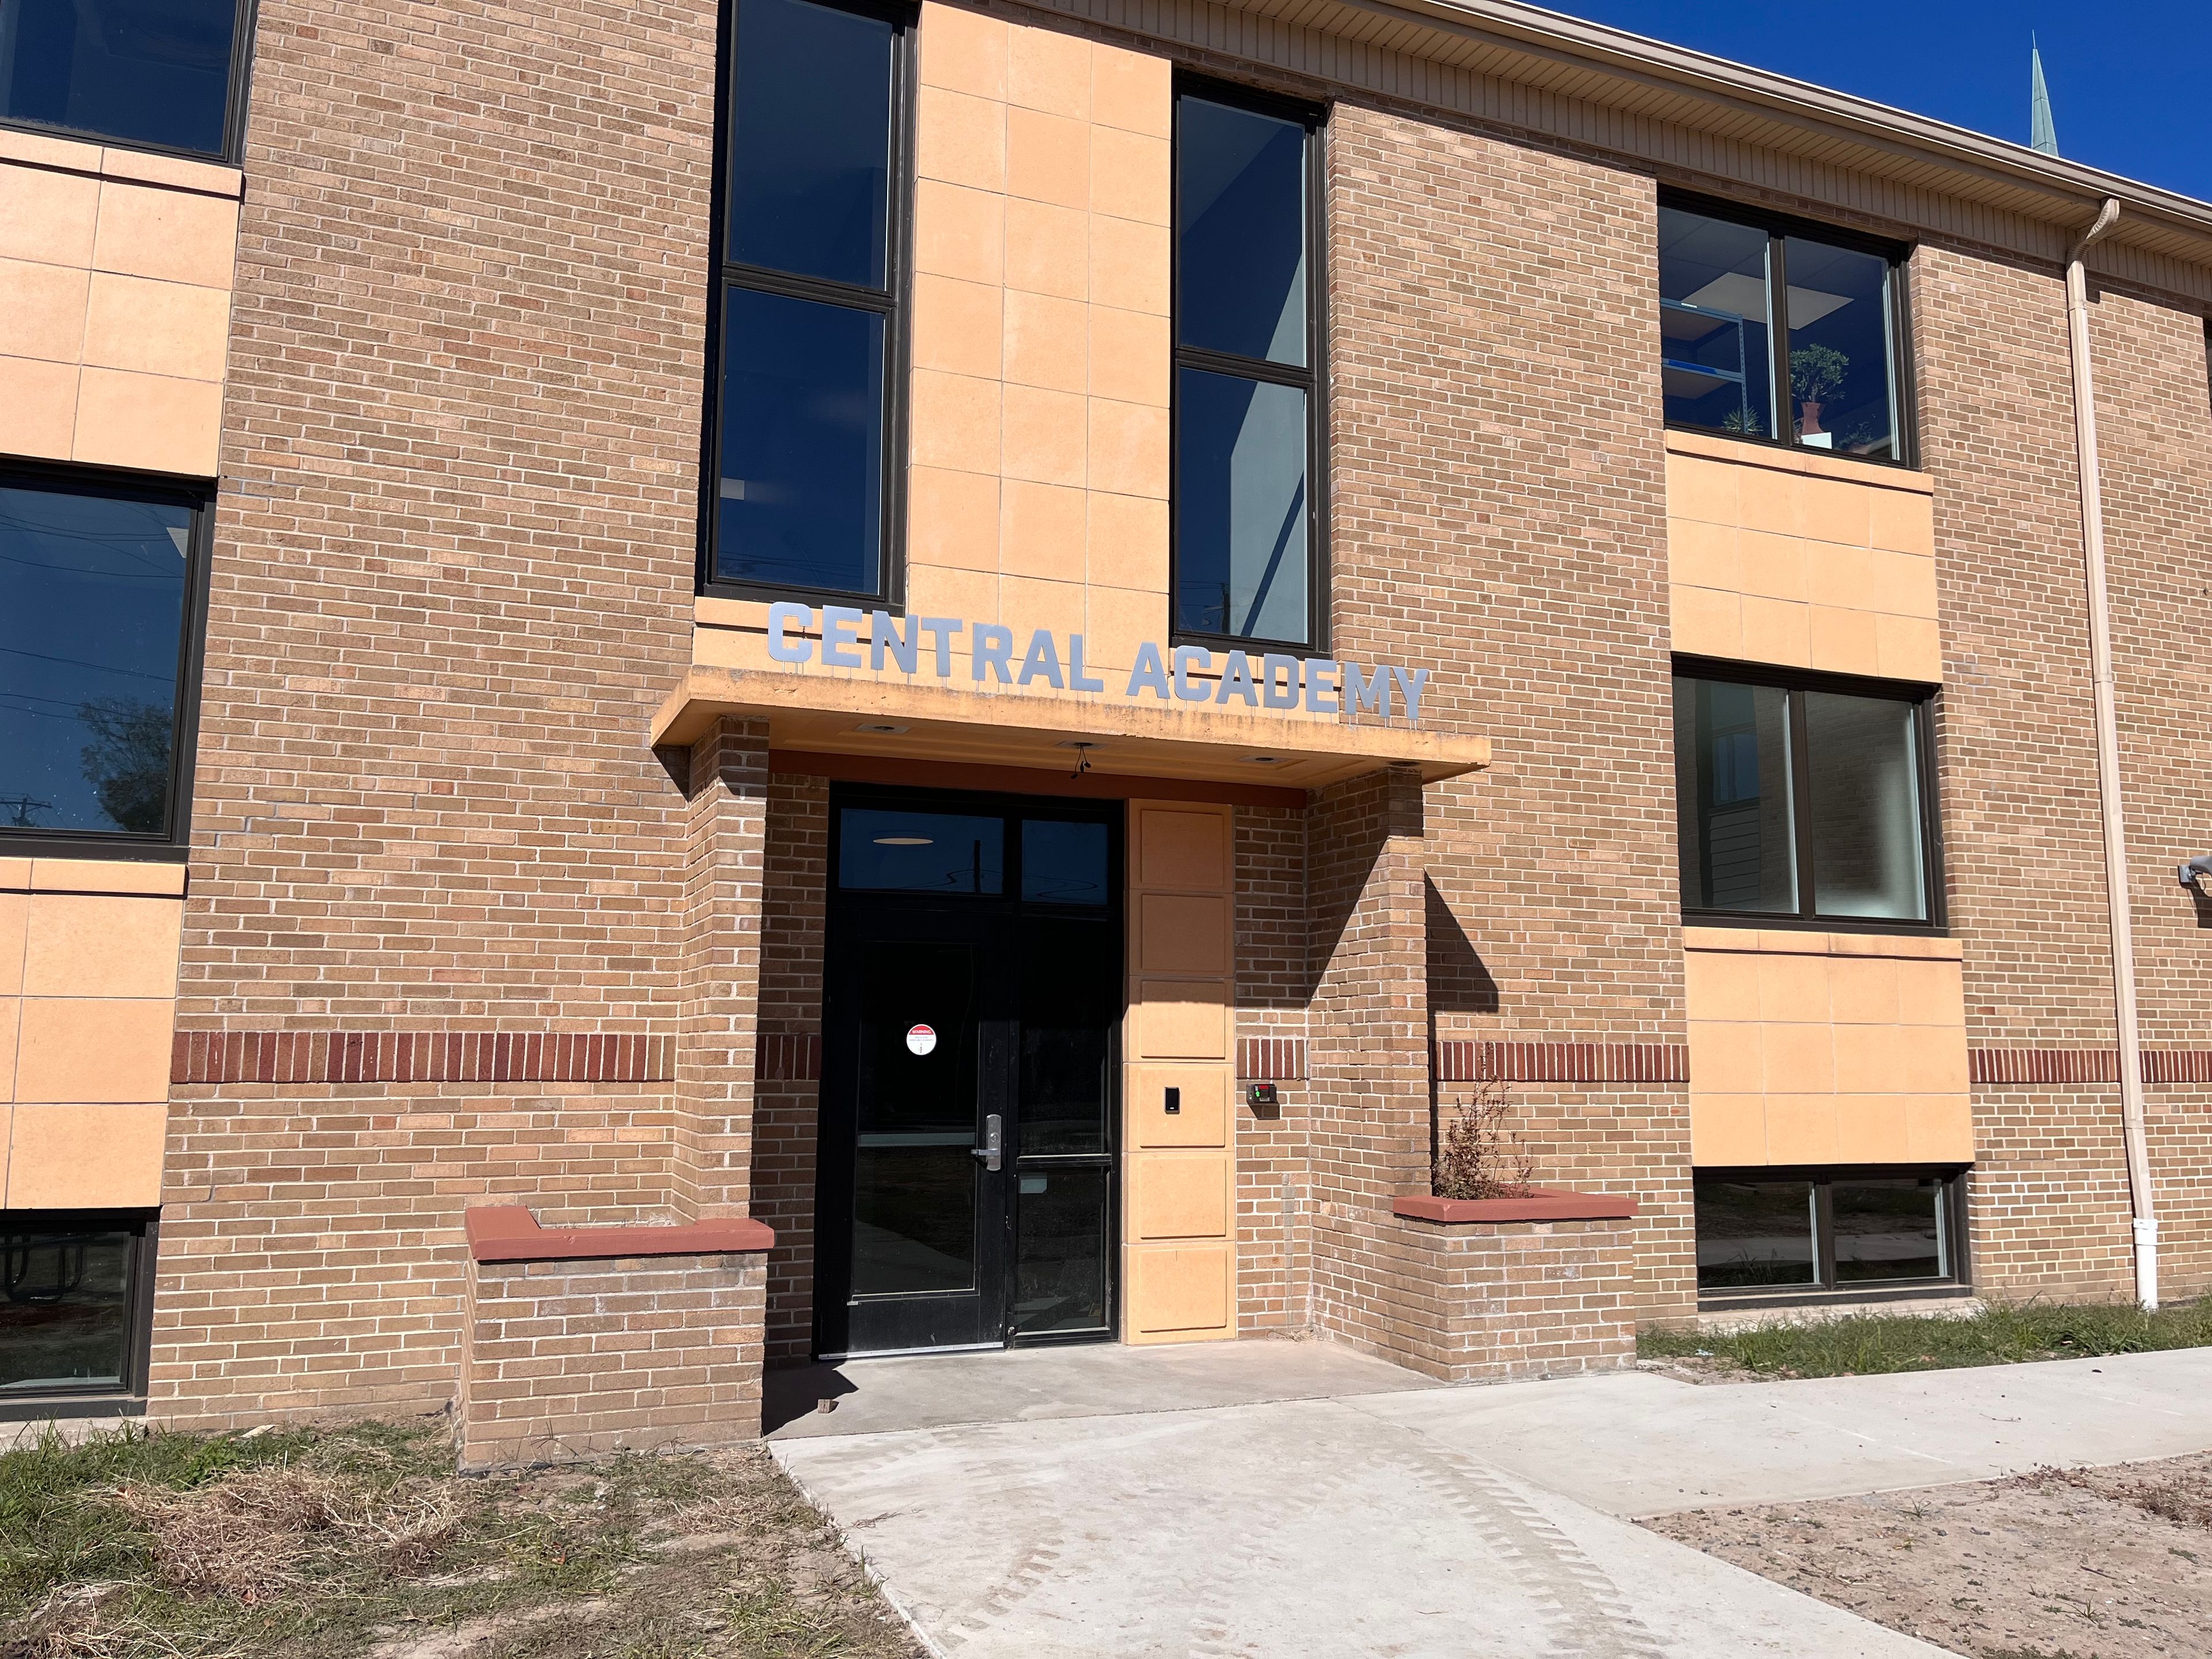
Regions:
<svg viewBox="0 0 2212 1659"><path fill-rule="evenodd" d="M1670 431L1672 646L1942 681L1927 473Z"/></svg>

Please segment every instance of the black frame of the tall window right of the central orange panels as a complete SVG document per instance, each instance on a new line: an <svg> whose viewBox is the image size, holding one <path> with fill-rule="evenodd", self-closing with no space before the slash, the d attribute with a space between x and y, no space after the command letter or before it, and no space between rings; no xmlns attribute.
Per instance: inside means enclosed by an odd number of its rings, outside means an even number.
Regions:
<svg viewBox="0 0 2212 1659"><path fill-rule="evenodd" d="M1234 352L1183 345L1183 212L1181 212L1181 142L1183 97L1228 104L1254 115L1298 122L1305 128L1305 365L1270 363ZM1214 80L1192 71L1175 75L1175 139L1168 153L1168 644L1206 646L1208 650L1265 653L1283 650L1301 657L1329 653L1329 108L1303 97L1267 93L1239 82ZM1181 626L1181 504L1183 491L1183 369L1203 369L1239 380L1265 380L1305 392L1305 630L1307 639L1263 639L1259 635L1199 633Z"/></svg>

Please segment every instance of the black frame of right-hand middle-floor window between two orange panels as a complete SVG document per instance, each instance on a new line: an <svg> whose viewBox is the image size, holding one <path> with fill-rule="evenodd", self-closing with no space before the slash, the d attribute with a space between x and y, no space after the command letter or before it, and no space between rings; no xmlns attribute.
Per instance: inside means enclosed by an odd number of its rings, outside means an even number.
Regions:
<svg viewBox="0 0 2212 1659"><path fill-rule="evenodd" d="M1823 916L1814 909L1814 856L1812 856L1812 814L1805 812L1805 803L1812 801L1812 750L1805 741L1805 699L1790 699L1790 790L1792 790L1792 852L1796 856L1796 885L1798 885L1798 909L1787 911L1759 911L1759 909L1697 909L1690 905L1690 896L1681 894L1681 920L1683 927L1767 927L1767 929L1805 929L1812 933L1916 933L1927 938L1942 938L1949 927L1944 907L1944 867L1942 867L1942 803L1936 794L1936 699L1942 695L1940 686L1927 686L1907 679L1865 679L1860 675L1823 675L1812 668L1776 668L1772 664L1743 664L1743 661L1721 661L1714 657L1674 657L1668 677L1668 695L1672 701L1674 679L1717 679L1732 686L1770 686L1785 692L1836 692L1840 697L1880 697L1891 703L1913 706L1913 759L1918 765L1920 781L1920 880L1927 889L1927 920L1916 922L1909 918L1889 916ZM1672 723L1668 726L1672 732ZM1681 757L1674 757L1677 779L1681 776ZM1677 785L1679 787L1679 785ZM1677 825L1679 805L1677 805ZM1679 841L1677 830L1677 841ZM1677 887L1681 883L1681 849L1677 845Z"/></svg>

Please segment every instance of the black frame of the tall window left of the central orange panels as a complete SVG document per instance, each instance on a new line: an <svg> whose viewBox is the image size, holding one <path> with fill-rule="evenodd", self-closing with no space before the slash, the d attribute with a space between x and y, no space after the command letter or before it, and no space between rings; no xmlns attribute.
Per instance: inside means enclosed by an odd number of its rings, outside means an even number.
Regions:
<svg viewBox="0 0 2212 1659"><path fill-rule="evenodd" d="M914 0L807 0L825 11L876 18L898 31L891 49L891 166L885 204L883 290L799 276L730 259L730 150L737 142L737 13L741 0L721 0L721 31L714 55L714 206L708 215L712 259L706 312L706 420L699 442L699 560L695 588L719 599L799 599L803 604L854 604L905 615L907 604L907 383L911 378L914 332L914 106L918 86L920 4ZM732 288L781 294L885 319L883 343L883 515L876 529L874 588L805 588L783 582L741 582L714 575L721 533L721 418L723 418L723 314Z"/></svg>

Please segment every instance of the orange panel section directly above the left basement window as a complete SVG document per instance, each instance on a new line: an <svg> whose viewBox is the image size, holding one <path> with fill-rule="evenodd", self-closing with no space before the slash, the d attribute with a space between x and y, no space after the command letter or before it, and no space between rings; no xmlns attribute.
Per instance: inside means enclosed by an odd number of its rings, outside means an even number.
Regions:
<svg viewBox="0 0 2212 1659"><path fill-rule="evenodd" d="M161 1197L184 865L0 858L0 1206Z"/></svg>

